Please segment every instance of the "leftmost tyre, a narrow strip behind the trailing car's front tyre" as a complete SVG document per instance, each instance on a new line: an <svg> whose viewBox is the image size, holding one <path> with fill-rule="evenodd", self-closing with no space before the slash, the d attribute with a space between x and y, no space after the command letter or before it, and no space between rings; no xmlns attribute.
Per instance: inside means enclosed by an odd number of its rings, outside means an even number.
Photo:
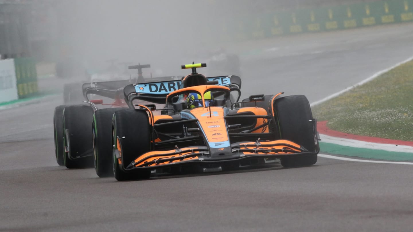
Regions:
<svg viewBox="0 0 413 232"><path fill-rule="evenodd" d="M53 133L55 138L55 156L57 164L60 166L64 165L63 154L63 109L65 105L58 106L55 108L53 113Z"/></svg>

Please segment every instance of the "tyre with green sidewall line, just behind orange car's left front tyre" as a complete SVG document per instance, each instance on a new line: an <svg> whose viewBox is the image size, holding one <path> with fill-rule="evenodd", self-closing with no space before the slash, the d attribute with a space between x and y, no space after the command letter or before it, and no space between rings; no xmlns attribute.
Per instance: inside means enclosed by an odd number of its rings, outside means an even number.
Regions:
<svg viewBox="0 0 413 232"><path fill-rule="evenodd" d="M98 109L93 114L93 160L99 177L113 176L112 117L125 108Z"/></svg>

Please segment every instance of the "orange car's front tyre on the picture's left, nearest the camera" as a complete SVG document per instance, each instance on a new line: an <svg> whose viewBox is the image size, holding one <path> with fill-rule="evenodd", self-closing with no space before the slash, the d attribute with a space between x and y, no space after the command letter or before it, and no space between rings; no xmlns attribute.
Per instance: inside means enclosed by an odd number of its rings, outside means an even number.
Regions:
<svg viewBox="0 0 413 232"><path fill-rule="evenodd" d="M112 125L113 172L116 180L150 178L150 170L123 171L123 168L126 168L138 156L150 151L151 125L146 111L118 110L113 115ZM121 162L116 158L116 150L121 154ZM123 168L119 167L119 163Z"/></svg>

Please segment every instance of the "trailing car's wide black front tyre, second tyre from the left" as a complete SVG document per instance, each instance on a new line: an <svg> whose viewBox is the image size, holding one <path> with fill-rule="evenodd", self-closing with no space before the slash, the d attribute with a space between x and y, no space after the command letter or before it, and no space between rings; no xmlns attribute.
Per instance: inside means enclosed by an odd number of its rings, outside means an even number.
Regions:
<svg viewBox="0 0 413 232"><path fill-rule="evenodd" d="M93 166L92 131L93 109L86 105L66 106L63 111L64 166L84 168Z"/></svg>

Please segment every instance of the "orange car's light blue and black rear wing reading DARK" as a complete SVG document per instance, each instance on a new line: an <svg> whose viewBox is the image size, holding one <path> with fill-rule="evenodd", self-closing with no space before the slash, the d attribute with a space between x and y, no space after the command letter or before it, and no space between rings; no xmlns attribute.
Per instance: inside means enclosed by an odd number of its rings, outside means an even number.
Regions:
<svg viewBox="0 0 413 232"><path fill-rule="evenodd" d="M237 88L238 91L241 88L241 78L239 76L207 77L207 81L211 83L211 85L227 86L228 88L236 86L235 88ZM132 104L134 99L141 99L156 104L165 104L166 96L180 89L180 87L180 80L149 82L126 85L123 93L128 106L134 108Z"/></svg>

